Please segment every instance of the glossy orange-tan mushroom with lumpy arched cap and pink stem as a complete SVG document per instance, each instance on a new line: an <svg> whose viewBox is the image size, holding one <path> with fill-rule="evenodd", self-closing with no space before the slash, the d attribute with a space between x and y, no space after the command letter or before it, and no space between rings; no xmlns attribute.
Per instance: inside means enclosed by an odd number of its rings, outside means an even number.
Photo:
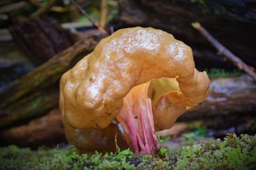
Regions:
<svg viewBox="0 0 256 170"><path fill-rule="evenodd" d="M159 149L155 131L172 127L208 92L207 73L195 69L189 46L167 32L133 27L102 39L63 74L60 108L76 129L102 129L117 118L131 150L148 154Z"/></svg>

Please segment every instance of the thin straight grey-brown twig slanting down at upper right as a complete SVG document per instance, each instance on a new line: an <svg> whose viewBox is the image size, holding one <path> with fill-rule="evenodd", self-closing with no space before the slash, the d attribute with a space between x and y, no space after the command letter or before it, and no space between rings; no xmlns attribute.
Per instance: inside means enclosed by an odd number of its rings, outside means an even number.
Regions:
<svg viewBox="0 0 256 170"><path fill-rule="evenodd" d="M225 46L223 46L217 39L215 39L199 22L191 24L196 30L198 30L219 52L223 53L228 60L231 60L235 66L242 69L244 72L252 76L253 80L256 81L256 73L250 68L252 66L246 65L243 60L239 59L234 53L230 52Z"/></svg>

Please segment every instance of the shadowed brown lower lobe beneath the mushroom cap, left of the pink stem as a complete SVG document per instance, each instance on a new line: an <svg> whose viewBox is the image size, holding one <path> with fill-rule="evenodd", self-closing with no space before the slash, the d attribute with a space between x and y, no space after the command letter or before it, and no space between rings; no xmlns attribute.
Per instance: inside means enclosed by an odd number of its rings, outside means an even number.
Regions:
<svg viewBox="0 0 256 170"><path fill-rule="evenodd" d="M112 121L104 129L74 129L68 124L64 126L68 143L76 146L79 153L92 153L95 150L115 152L116 145L120 149L127 148L127 143L116 121Z"/></svg>

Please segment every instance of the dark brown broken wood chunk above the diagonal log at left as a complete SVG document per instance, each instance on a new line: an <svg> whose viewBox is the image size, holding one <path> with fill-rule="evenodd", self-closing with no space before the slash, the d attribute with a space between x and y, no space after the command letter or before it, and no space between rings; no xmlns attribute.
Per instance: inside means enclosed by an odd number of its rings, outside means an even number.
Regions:
<svg viewBox="0 0 256 170"><path fill-rule="evenodd" d="M15 22L9 31L20 48L36 65L62 52L76 42L76 35L52 18L33 18Z"/></svg>

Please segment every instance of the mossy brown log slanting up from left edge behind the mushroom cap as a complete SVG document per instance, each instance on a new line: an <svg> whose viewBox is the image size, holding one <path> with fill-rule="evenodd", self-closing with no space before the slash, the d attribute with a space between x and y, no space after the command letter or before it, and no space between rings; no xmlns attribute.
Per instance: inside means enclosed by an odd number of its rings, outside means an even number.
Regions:
<svg viewBox="0 0 256 170"><path fill-rule="evenodd" d="M81 40L13 83L0 94L0 128L30 120L58 106L58 82L77 60L92 52L97 41Z"/></svg>

